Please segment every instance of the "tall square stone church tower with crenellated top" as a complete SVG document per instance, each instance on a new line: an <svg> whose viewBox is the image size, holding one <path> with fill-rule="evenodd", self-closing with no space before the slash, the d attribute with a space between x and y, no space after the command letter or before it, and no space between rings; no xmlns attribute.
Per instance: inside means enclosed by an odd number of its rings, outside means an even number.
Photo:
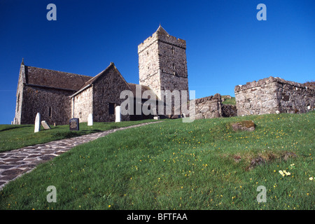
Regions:
<svg viewBox="0 0 315 224"><path fill-rule="evenodd" d="M160 25L138 46L139 84L147 85L161 99L161 90L186 90L188 71L186 41L170 36Z"/></svg>

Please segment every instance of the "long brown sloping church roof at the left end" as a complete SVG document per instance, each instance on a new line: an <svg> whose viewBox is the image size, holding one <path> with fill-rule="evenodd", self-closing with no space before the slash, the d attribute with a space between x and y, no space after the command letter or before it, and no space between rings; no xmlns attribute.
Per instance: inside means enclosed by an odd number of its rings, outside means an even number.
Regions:
<svg viewBox="0 0 315 224"><path fill-rule="evenodd" d="M91 78L91 76L25 65L25 79L28 85L77 91Z"/></svg>

